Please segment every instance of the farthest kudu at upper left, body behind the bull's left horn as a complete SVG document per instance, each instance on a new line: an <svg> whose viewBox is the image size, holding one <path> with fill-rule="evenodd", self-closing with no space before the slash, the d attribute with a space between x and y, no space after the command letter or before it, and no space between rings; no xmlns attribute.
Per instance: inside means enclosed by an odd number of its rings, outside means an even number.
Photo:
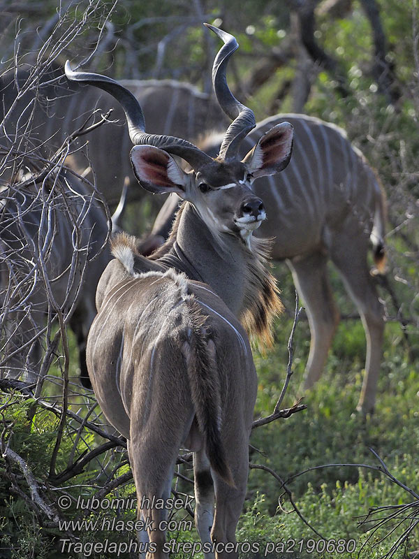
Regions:
<svg viewBox="0 0 419 559"><path fill-rule="evenodd" d="M27 84L34 83L30 89ZM94 87L80 87L70 83L61 69L46 71L35 79L33 73L21 68L5 73L0 78L0 149L3 154L14 151L36 150L46 159L61 145L68 133L78 129L94 110L106 114L112 108L103 131L91 131L86 138L76 140L66 164L93 182L108 203L119 201L125 177L135 182L128 162L131 142L125 126L124 112L110 95ZM24 87L26 84L26 87ZM174 80L125 80L125 86L135 92L150 117L149 125L156 133L183 135L193 139L205 130L219 129L225 122L219 106L210 96L195 87ZM165 110L162 110L164 108ZM148 124L147 124L148 125ZM82 147L86 139L89 147ZM104 157L105 154L105 157ZM124 157L126 154L126 157ZM0 161L0 186L13 176L10 157L6 166ZM15 161L16 168L22 164ZM112 171L110 172L110 170ZM130 189L131 199L140 196Z"/></svg>

